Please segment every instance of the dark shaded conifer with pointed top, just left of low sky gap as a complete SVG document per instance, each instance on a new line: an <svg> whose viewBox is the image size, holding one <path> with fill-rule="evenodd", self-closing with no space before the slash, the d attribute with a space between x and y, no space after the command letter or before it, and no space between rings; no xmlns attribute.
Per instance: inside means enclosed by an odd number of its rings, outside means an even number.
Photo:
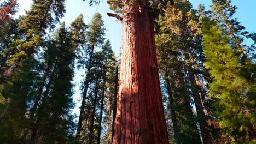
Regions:
<svg viewBox="0 0 256 144"><path fill-rule="evenodd" d="M51 70L50 73L49 71L44 72L47 74L48 83L44 83L44 92L39 91L39 94L42 95L40 95L40 103L34 118L35 122L31 129L31 141L51 140L63 143L69 141L72 135L71 81L73 79L76 47L73 45L71 37L72 34L66 30L65 23L62 23L62 26L55 32L54 38L47 45L48 51L45 52L44 57L53 61L46 61L48 62L46 63L46 70L48 68Z"/></svg>

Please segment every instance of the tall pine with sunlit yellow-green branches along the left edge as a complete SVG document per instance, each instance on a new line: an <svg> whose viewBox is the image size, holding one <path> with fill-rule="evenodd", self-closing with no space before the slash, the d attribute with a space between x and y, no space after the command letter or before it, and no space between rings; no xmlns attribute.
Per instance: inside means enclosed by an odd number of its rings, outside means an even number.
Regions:
<svg viewBox="0 0 256 144"><path fill-rule="evenodd" d="M55 3L48 2L49 1L34 1L31 10L27 12L27 16L23 16L19 19L19 28L17 25L18 21L13 22L15 23L15 25L11 27L13 28L13 32L7 33L9 34L10 42L3 50L3 61L1 58L1 71L4 69L8 72L7 75L5 75L5 80L1 81L1 96L3 95L3 97L5 97L7 104L4 107L4 112L1 117L5 119L2 123L2 125L4 125L2 128L9 129L10 133L12 133L10 135L3 134L3 137L5 137L7 141L11 140L11 143L24 143L26 141L28 128L30 128L27 110L30 109L32 99L36 97L36 93L34 93L32 88L34 88L39 81L37 76L39 62L38 59L34 58L34 55L32 55L34 54L34 49L37 49L39 44L43 44L42 37L45 34L45 30L50 25L53 26L54 23L57 22L53 20L58 20L63 16L63 11L65 11L63 10L63 1ZM11 1L10 5L14 3L15 1ZM49 9L45 9L46 5L49 6ZM7 8L15 9L15 4L11 7L9 6ZM1 8L1 10L3 9ZM13 12L9 12L13 14ZM53 18L54 16L51 15L51 12L56 15L55 18ZM5 18L10 17L10 15L5 16L7 16ZM42 19L42 16L45 18ZM3 17L1 17L1 19L2 18ZM5 21L8 19L5 19ZM9 23L11 23L11 21ZM11 125L18 126L11 127ZM9 139L9 137L12 138Z"/></svg>

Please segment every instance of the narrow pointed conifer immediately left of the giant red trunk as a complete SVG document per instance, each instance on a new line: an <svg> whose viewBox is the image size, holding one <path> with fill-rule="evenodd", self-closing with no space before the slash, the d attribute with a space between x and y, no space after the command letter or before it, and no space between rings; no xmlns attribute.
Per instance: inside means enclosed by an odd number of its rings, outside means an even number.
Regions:
<svg viewBox="0 0 256 144"><path fill-rule="evenodd" d="M113 97L113 75L114 75L115 57L107 40L102 50L95 52L89 77L89 98L85 103L86 116L83 119L83 130L80 143L100 143L103 129L102 123L110 127L112 120L110 112L112 109L106 105L112 104ZM106 107L105 107L106 106Z"/></svg>

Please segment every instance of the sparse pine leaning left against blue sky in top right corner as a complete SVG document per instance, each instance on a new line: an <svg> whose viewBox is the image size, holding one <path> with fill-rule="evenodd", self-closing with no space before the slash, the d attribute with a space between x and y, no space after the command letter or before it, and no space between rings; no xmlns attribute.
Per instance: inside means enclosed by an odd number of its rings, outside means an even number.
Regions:
<svg viewBox="0 0 256 144"><path fill-rule="evenodd" d="M244 39L250 35L245 31L245 26L241 25L237 18L234 17L237 7L231 5L231 0L213 0L212 3L212 19L217 21L218 25L229 36L232 49L236 51L236 55L239 56L238 60L243 65L243 76L253 81L255 69L253 68L252 59L255 57L255 47L243 44ZM254 73L254 76L251 76L252 73Z"/></svg>

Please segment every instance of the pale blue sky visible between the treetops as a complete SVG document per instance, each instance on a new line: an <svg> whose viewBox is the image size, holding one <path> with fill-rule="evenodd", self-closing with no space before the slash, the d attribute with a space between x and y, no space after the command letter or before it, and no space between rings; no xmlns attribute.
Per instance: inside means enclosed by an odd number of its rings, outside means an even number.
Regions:
<svg viewBox="0 0 256 144"><path fill-rule="evenodd" d="M1 1L1 0L0 0ZM24 15L24 9L29 10L32 0L18 0L20 5L20 10L18 15ZM196 9L198 4L204 4L207 8L208 5L211 4L211 0L190 0L193 4L193 8ZM238 21L242 23L246 27L248 32L256 32L256 0L232 0L232 5L236 5L238 9L236 10L235 17L238 17ZM116 55L119 55L119 50L121 46L121 23L115 20L113 17L108 17L107 13L111 12L109 10L109 6L106 0L100 1L99 5L95 5L94 7L89 7L89 4L82 0L67 0L66 1L66 14L65 17L61 19L66 22L66 25L69 25L76 17L79 16L80 13L84 15L85 23L89 23L92 15L96 12L102 15L102 19L105 23L106 28L106 39L109 39L113 51ZM246 43L249 43L249 40L245 40ZM81 75L84 75L84 71L80 70L74 78L74 82L80 83ZM73 113L79 113L80 103L78 102L80 99L80 91L79 87L75 87L74 100L77 102L77 107L75 107Z"/></svg>

